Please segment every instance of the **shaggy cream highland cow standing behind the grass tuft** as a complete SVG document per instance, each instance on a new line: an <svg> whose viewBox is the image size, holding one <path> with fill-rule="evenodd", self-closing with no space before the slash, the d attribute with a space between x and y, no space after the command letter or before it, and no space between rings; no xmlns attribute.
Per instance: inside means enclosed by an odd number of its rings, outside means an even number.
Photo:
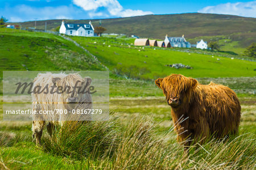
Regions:
<svg viewBox="0 0 256 170"><path fill-rule="evenodd" d="M48 122L47 131L52 135L53 127L59 122L62 125L67 120L78 120L77 117L68 117L71 114L64 114L64 112L71 113L81 103L86 103L86 109L92 108L92 96L89 93L91 82L92 79L82 78L76 73L46 73L36 76L33 84L33 90L36 93L32 93L32 107L37 113L52 111L52 114L33 114L32 116L32 136L36 139L36 144L40 144L46 121Z"/></svg>

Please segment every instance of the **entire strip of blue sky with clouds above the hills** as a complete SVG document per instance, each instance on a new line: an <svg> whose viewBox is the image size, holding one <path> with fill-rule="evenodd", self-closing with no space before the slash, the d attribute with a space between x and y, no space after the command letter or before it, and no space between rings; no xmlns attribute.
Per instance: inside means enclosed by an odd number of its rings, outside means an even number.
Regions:
<svg viewBox="0 0 256 170"><path fill-rule="evenodd" d="M9 22L44 19L96 19L148 14L201 12L256 18L256 1L0 0Z"/></svg>

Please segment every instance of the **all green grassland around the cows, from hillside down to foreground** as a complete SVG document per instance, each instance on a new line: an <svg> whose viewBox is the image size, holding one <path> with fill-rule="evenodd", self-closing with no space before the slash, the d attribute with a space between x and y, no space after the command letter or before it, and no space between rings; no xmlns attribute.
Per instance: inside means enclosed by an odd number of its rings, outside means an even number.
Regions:
<svg viewBox="0 0 256 170"><path fill-rule="evenodd" d="M0 120L0 169L256 168L255 62L217 56L220 53L212 57L176 49L142 49L130 45L133 39L72 39L112 71L110 120L86 125L69 122L63 128L57 127L52 138L44 130L42 146L32 141L32 122ZM0 29L0 40L0 56L5 61L2 70L103 70L100 63L59 36ZM164 66L179 62L194 69ZM134 79L127 78L126 70L118 65L130 68ZM152 80L170 73L193 76L202 84L212 81L232 88L242 107L238 135L223 141L210 138L204 145L195 143L185 153L176 142L171 108Z"/></svg>

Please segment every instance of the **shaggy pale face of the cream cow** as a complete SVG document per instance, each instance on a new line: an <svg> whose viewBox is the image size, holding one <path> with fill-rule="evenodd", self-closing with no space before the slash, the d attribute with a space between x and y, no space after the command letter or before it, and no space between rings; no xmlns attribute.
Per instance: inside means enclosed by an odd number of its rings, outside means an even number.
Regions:
<svg viewBox="0 0 256 170"><path fill-rule="evenodd" d="M92 79L89 77L82 78L78 74L68 74L64 78L52 78L53 84L62 96L63 103L79 103L88 98L88 89Z"/></svg>

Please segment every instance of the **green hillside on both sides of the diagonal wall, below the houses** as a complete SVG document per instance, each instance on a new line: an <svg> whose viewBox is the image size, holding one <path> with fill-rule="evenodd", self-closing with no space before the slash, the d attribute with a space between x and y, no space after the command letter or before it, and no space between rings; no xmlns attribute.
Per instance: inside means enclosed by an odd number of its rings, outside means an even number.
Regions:
<svg viewBox="0 0 256 170"><path fill-rule="evenodd" d="M256 63L221 57L207 50L166 49L131 45L125 37L71 37L109 67L113 74L135 79L155 79L171 73L192 77L254 76ZM0 29L3 70L101 70L73 42L49 33ZM181 51L178 51L181 50ZM232 59L234 58L234 59ZM192 69L166 65L182 63Z"/></svg>

